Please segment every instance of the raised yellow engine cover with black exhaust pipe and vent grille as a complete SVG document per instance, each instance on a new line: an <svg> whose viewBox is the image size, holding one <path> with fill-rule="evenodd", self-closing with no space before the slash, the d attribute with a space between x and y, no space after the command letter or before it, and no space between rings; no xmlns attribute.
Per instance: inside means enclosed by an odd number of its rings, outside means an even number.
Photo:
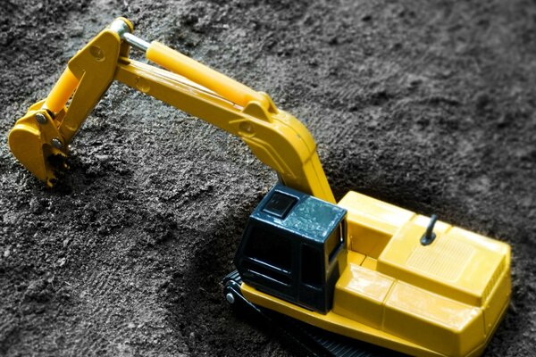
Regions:
<svg viewBox="0 0 536 357"><path fill-rule="evenodd" d="M509 246L461 228L448 228L428 246L425 228L410 221L392 237L378 271L463 303L482 305L496 274L506 269Z"/></svg>

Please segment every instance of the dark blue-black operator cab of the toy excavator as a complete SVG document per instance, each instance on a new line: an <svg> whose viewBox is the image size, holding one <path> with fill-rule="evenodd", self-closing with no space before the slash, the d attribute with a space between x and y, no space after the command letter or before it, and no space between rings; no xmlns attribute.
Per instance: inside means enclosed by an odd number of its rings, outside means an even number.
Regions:
<svg viewBox="0 0 536 357"><path fill-rule="evenodd" d="M308 310L331 310L347 264L347 211L276 185L249 217L235 264L247 284Z"/></svg>

